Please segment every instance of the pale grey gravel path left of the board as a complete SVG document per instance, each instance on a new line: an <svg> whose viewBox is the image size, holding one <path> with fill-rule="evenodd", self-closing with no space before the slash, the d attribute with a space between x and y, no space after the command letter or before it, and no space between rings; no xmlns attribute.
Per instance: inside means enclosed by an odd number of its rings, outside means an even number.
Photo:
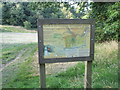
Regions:
<svg viewBox="0 0 120 90"><path fill-rule="evenodd" d="M0 43L31 43L37 42L37 33L0 33Z"/></svg>

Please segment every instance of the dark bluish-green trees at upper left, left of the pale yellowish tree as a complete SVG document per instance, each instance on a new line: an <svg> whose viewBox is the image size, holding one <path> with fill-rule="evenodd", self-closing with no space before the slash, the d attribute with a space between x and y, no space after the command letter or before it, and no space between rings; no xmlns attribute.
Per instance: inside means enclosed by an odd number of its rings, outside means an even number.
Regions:
<svg viewBox="0 0 120 90"><path fill-rule="evenodd" d="M38 18L60 18L60 3L56 2L3 2L2 24L24 26L25 21L37 27Z"/></svg>

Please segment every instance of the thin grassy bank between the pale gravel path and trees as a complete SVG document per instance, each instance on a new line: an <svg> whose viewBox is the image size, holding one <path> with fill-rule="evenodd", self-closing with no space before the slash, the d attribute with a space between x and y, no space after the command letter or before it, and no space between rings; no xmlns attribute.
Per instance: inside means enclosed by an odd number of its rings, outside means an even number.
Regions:
<svg viewBox="0 0 120 90"><path fill-rule="evenodd" d="M0 25L0 32L31 33L36 31L35 29L27 30L20 26Z"/></svg>

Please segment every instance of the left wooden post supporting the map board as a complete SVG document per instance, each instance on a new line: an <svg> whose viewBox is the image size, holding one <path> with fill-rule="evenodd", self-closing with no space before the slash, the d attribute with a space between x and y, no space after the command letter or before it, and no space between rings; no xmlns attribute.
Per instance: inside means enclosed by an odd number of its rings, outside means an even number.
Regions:
<svg viewBox="0 0 120 90"><path fill-rule="evenodd" d="M41 88L46 88L45 64L40 64L40 85Z"/></svg>

